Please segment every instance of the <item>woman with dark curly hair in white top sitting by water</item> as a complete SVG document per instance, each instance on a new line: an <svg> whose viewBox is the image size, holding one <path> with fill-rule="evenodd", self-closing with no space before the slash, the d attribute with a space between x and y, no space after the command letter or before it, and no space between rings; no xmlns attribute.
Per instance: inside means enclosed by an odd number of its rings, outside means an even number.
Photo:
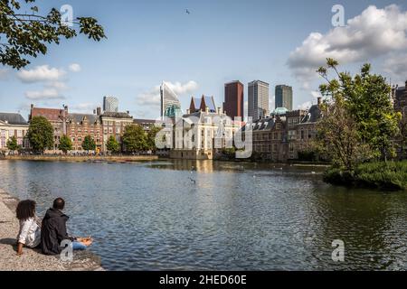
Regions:
<svg viewBox="0 0 407 289"><path fill-rule="evenodd" d="M41 243L40 222L35 215L35 201L22 200L18 203L17 219L20 220L20 231L17 237L17 255L23 254L23 247L38 247Z"/></svg>

